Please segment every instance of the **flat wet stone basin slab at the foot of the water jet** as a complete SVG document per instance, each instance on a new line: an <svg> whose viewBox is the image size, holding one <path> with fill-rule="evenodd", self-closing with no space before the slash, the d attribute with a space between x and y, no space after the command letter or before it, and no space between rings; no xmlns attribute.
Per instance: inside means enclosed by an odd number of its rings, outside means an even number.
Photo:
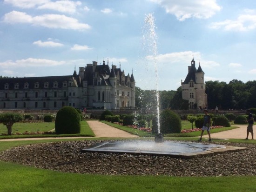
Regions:
<svg viewBox="0 0 256 192"><path fill-rule="evenodd" d="M196 142L178 141L107 141L81 149L81 152L127 153L170 156L190 159L195 156L214 155L222 152L245 150L245 147L223 146Z"/></svg>

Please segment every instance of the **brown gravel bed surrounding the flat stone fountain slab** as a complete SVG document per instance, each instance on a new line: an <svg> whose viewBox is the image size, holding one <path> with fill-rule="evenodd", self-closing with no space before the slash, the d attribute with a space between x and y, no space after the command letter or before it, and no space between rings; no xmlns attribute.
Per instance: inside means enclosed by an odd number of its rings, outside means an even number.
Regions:
<svg viewBox="0 0 256 192"><path fill-rule="evenodd" d="M0 160L60 172L105 175L228 176L256 175L256 145L214 142L247 147L193 159L155 155L81 153L82 148L102 142L62 141L18 146L0 153Z"/></svg>

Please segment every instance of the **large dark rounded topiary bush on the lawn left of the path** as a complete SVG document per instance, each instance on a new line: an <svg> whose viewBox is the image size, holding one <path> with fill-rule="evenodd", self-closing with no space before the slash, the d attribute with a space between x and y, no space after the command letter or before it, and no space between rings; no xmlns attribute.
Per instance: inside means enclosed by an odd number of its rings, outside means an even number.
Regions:
<svg viewBox="0 0 256 192"><path fill-rule="evenodd" d="M80 133L81 117L79 113L71 106L62 107L55 119L56 134L75 134Z"/></svg>

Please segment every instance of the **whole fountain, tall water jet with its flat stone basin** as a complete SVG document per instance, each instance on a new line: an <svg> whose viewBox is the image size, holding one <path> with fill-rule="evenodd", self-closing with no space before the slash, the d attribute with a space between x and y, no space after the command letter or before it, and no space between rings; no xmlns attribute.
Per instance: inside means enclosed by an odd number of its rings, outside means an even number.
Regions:
<svg viewBox="0 0 256 192"><path fill-rule="evenodd" d="M103 153L128 153L128 154L150 154L181 158L192 158L196 155L210 155L225 151L242 150L241 147L222 146L214 144L203 144L196 142L177 142L164 141L163 134L160 132L160 110L158 94L158 73L157 73L157 35L155 33L155 19L152 14L145 17L143 44L147 44L151 52L151 58L155 65L155 88L157 100L157 126L158 133L155 135L155 142L145 140L134 141L106 141L88 148L81 149L81 152L103 152Z"/></svg>

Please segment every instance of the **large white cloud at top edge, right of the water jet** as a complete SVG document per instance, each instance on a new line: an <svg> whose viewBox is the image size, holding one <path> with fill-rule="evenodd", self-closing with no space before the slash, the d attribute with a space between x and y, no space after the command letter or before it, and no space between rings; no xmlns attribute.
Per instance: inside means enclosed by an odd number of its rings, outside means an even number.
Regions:
<svg viewBox="0 0 256 192"><path fill-rule="evenodd" d="M208 19L220 7L216 0L151 0L165 8L166 13L174 14L180 21L189 18Z"/></svg>

